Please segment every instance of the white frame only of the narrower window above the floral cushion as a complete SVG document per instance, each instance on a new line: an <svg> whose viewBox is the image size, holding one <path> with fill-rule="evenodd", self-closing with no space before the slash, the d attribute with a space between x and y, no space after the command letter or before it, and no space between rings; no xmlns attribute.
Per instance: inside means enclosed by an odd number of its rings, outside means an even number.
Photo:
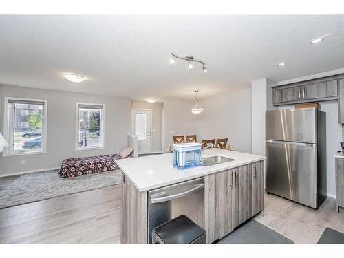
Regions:
<svg viewBox="0 0 344 258"><path fill-rule="evenodd" d="M89 105L89 106L101 106L102 107L102 114L100 117L100 147L79 147L79 105ZM84 103L84 102L77 102L75 105L75 150L76 151L87 151L87 150L95 150L95 149L105 149L105 104L100 103Z"/></svg>

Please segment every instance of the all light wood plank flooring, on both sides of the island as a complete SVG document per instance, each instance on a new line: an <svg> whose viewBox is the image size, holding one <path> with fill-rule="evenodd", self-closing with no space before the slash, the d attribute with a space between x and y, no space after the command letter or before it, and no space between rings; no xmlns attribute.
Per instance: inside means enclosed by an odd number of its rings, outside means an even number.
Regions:
<svg viewBox="0 0 344 258"><path fill-rule="evenodd" d="M120 243L120 185L0 210L0 243ZM326 227L344 233L344 212L328 198L314 210L264 195L254 219L295 243L316 243Z"/></svg>

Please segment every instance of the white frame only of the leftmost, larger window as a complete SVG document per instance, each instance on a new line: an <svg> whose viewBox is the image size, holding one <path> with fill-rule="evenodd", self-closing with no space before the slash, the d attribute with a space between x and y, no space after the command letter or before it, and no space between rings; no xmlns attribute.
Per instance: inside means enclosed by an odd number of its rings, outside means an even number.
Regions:
<svg viewBox="0 0 344 258"><path fill-rule="evenodd" d="M12 107L10 108L10 103L8 103L8 100L21 100L21 101L36 101L36 102L43 102L44 103L44 112L43 112L43 129L42 129L42 149L40 151L28 151L28 152L11 152L10 148L13 146L12 139L10 139L10 136L12 133L10 133L10 122L14 122L10 118L10 111ZM9 156L21 156L21 155L36 155L36 154L45 154L47 153L47 100L41 100L36 98L17 98L17 97L5 97L4 98L4 108L3 108L3 136L6 138L8 142L8 147L6 147L3 151L3 157L9 157Z"/></svg>

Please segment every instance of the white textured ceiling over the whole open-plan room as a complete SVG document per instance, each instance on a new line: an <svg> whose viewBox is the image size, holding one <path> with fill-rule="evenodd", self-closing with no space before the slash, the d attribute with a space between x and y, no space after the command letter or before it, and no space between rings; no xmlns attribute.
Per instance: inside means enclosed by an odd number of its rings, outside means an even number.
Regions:
<svg viewBox="0 0 344 258"><path fill-rule="evenodd" d="M344 67L343 26L343 15L1 16L0 83L136 100L192 99L199 89L204 98ZM171 51L200 58L208 73L171 66ZM63 72L89 80L69 83Z"/></svg>

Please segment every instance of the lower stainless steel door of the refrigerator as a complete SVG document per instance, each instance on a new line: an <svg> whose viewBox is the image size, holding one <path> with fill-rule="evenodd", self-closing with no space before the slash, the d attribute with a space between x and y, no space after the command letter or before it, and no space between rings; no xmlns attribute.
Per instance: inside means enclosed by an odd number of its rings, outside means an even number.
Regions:
<svg viewBox="0 0 344 258"><path fill-rule="evenodd" d="M266 191L317 207L316 144L266 142Z"/></svg>

